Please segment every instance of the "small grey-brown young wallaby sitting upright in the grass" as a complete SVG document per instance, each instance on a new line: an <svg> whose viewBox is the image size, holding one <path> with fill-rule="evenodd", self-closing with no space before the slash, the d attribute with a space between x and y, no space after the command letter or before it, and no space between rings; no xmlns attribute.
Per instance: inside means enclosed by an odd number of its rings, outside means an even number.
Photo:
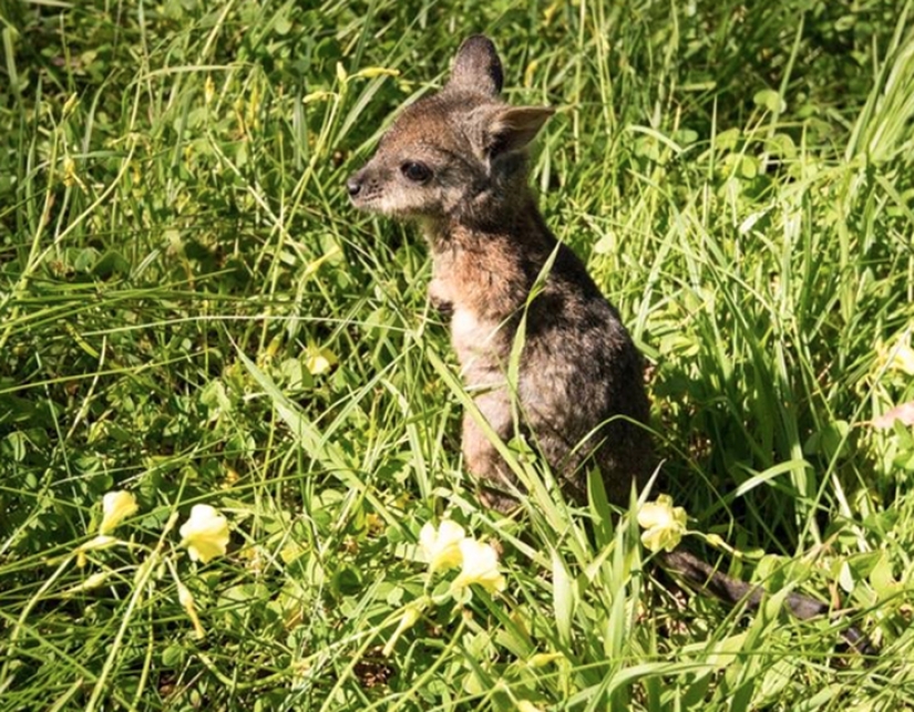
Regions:
<svg viewBox="0 0 914 712"><path fill-rule="evenodd" d="M597 465L609 499L625 506L633 482L644 485L654 467L641 354L527 185L526 147L553 110L504 103L502 83L493 43L469 38L444 89L405 107L346 187L358 208L419 221L433 258L430 299L451 311L465 386L495 433L530 437L577 503L587 501L587 465ZM523 319L517 382L509 384ZM483 501L500 510L516 504L516 478L470 414L462 448ZM762 599L760 588L691 554L661 558L730 602ZM788 607L802 619L828 612L797 595ZM865 646L854 629L845 637Z"/></svg>

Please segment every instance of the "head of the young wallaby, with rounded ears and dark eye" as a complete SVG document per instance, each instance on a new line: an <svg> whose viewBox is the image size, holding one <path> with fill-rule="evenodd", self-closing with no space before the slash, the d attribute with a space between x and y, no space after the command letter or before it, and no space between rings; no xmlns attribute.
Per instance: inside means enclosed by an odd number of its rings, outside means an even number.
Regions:
<svg viewBox="0 0 914 712"><path fill-rule="evenodd" d="M553 113L505 104L501 90L495 47L469 38L444 89L403 110L347 180L353 205L397 217L497 219L525 190L525 148Z"/></svg>

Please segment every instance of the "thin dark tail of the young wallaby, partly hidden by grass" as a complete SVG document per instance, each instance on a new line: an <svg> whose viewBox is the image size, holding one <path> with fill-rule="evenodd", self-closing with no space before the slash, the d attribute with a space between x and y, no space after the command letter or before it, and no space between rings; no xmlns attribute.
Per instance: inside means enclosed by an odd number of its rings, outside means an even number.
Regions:
<svg viewBox="0 0 914 712"><path fill-rule="evenodd" d="M743 602L754 610L764 597L764 589L760 586L730 578L688 551L665 551L660 554L660 560L665 569L681 576L690 586L708 591L728 603ZM799 594L788 595L787 607L801 620L829 612L825 603ZM870 638L855 626L845 628L841 634L860 653L875 654L877 652Z"/></svg>

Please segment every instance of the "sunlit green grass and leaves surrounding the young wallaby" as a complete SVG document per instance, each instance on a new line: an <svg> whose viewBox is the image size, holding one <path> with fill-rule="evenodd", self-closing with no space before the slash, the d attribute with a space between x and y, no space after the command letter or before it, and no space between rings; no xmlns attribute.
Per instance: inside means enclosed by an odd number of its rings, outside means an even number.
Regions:
<svg viewBox="0 0 914 712"><path fill-rule="evenodd" d="M477 31L559 109L534 180L651 363L654 493L757 613L598 493L473 496L425 249L341 186ZM914 708L914 436L872 424L914 401L911 0L27 1L0 40L0 709ZM140 514L80 567L112 489ZM502 595L417 560L445 512Z"/></svg>

